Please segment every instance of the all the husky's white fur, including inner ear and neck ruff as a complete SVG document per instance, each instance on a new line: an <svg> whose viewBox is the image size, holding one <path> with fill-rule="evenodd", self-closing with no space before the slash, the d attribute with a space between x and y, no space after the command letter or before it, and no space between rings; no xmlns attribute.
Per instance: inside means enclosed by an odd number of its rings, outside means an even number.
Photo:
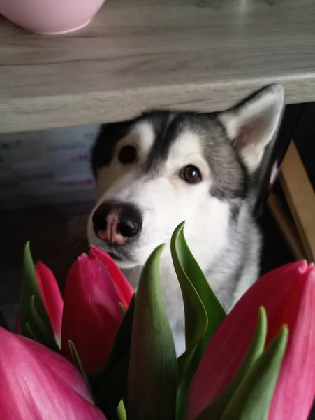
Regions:
<svg viewBox="0 0 315 420"><path fill-rule="evenodd" d="M283 104L282 88L268 87L248 103L218 117L231 141L241 137L240 154L251 172L261 162L265 146L277 130ZM150 253L156 246L166 243L161 260L161 282L177 354L184 351L184 309L170 256L170 237L179 223L186 221L184 233L189 247L201 269L206 274L211 273L207 278L219 297L224 295L224 288L233 286L226 281L242 262L242 250L246 249L248 262L235 284L236 289L231 289L233 299L230 304L234 304L258 277L261 241L251 209L246 201L240 199L238 222L231 228L230 202L212 197L209 193L213 179L203 153L204 140L189 128L183 130L170 146L166 161L154 174L148 174L140 168L154 142L154 129L149 121L135 123L129 134L116 144L110 164L98 169L98 201L87 228L89 242L108 251L107 244L94 233L94 211L107 200L135 204L140 209L142 230L133 245L133 260L119 262L135 289ZM132 144L138 151L138 159L131 165L122 165L117 158L120 148L126 144ZM180 178L180 169L186 165L195 165L200 169L203 176L201 183L191 185Z"/></svg>

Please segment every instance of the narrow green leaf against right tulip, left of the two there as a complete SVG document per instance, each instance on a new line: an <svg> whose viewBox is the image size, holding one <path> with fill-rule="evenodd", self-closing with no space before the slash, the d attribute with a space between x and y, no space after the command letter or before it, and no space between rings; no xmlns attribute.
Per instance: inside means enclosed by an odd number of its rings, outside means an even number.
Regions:
<svg viewBox="0 0 315 420"><path fill-rule="evenodd" d="M224 391L217 397L204 411L198 420L218 420L221 415L224 413L224 410L232 400L233 395L237 392L237 388L242 384L242 381L246 374L251 370L251 367L254 365L255 361L263 353L265 347L265 340L267 336L267 316L265 309L263 307L259 308L258 311L258 321L256 325L256 330L254 332L254 337L251 341L249 349L244 356L240 367L235 373L233 379L230 381L230 384L224 389ZM233 355L231 356L233 357Z"/></svg>

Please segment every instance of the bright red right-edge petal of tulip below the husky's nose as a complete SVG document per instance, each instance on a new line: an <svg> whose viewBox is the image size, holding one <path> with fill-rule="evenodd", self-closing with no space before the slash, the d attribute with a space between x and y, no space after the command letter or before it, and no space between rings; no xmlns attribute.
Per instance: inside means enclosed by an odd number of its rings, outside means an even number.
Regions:
<svg viewBox="0 0 315 420"><path fill-rule="evenodd" d="M100 248L93 245L89 248L89 257L91 259L100 260L103 262L103 265L108 268L122 304L124 304L125 308L129 307L134 290L124 274L122 274L122 271L119 269L115 261L110 258L108 253L105 253Z"/></svg>

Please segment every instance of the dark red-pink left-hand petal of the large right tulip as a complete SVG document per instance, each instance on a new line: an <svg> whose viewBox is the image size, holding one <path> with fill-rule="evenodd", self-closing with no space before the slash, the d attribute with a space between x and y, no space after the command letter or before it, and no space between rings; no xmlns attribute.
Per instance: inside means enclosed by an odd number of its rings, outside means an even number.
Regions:
<svg viewBox="0 0 315 420"><path fill-rule="evenodd" d="M269 328L295 284L293 274L306 267L307 262L300 261L274 269L258 279L237 302L214 333L193 377L187 419L196 419L234 377L254 335L258 308L265 307Z"/></svg>

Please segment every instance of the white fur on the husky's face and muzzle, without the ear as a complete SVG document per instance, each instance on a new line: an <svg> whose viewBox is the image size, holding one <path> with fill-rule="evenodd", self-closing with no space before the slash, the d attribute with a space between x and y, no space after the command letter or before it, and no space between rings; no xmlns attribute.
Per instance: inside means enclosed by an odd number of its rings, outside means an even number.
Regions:
<svg viewBox="0 0 315 420"><path fill-rule="evenodd" d="M170 237L176 226L186 221L186 240L192 253L198 255L200 267L206 269L228 241L229 207L227 203L209 196L210 169L203 158L200 141L192 132L185 132L173 144L169 157L157 176L153 178L150 175L139 176L137 167L147 154L147 151L142 149L142 133L144 132L142 129L143 127L135 127L135 131L139 133L136 146L140 150L142 159L140 158L136 165L130 165L128 170L126 170L126 165L119 164L117 159L100 170L99 191L103 189L103 195L99 194L94 209L97 209L102 202L111 199L133 203L142 209L143 225L141 239L136 248L136 262L126 261L120 264L134 288L138 286L140 270L150 253L156 246L166 243L167 246L162 255L161 281L165 290L164 296L171 327L173 331L181 330L178 339L175 339L177 351L181 353L184 350L182 335L184 311L180 286L170 256ZM145 134L151 136L148 127L145 128ZM136 137L133 138L133 144L135 140ZM126 144L126 139L119 141L117 149L123 144ZM178 176L180 169L189 164L196 165L203 173L203 182L196 186L185 183ZM116 179L113 179L113 176ZM92 214L88 223L89 242L104 248L104 242L94 233ZM203 239L200 241L200 238ZM215 290L216 284L212 286Z"/></svg>

